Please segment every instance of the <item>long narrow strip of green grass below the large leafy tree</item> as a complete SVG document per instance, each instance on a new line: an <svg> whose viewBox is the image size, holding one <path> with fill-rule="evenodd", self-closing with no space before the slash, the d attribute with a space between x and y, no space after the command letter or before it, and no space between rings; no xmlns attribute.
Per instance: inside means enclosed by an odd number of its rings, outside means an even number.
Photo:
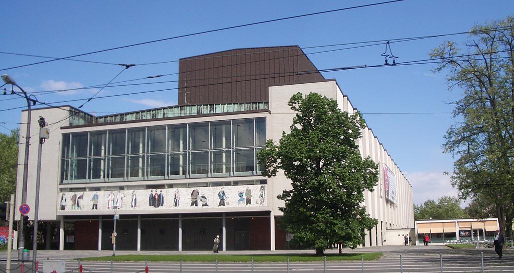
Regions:
<svg viewBox="0 0 514 273"><path fill-rule="evenodd" d="M327 261L355 261L376 260L382 257L382 252L366 252L366 253L343 253L343 254L327 254ZM215 254L190 254L190 255L120 255L120 256L102 256L81 258L82 261L111 261L115 262L178 262L180 259L184 262L214 262L218 258L218 262L250 262L253 257L254 262L285 262L287 255L215 255ZM323 256L314 254L290 255L290 262L314 262L323 261Z"/></svg>

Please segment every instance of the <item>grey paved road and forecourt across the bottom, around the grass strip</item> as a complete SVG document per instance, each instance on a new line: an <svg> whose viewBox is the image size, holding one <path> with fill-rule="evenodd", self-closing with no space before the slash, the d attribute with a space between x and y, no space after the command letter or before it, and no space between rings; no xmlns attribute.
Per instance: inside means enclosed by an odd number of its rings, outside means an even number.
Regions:
<svg viewBox="0 0 514 273"><path fill-rule="evenodd" d="M377 261L364 262L364 272L366 273L393 273L400 272L400 255L402 263L402 272L440 272L439 253L443 257L443 272L480 272L481 271L481 252L484 252L484 271L485 272L514 272L514 250L505 251L502 260L499 260L492 249L465 249L454 250L444 246L429 247L369 247L364 249L350 250L344 252L375 252L381 251L384 256ZM273 253L306 253L308 251L274 251ZM328 253L336 252L336 250L328 250ZM177 251L117 251L118 255L125 254L178 254ZM183 251L185 255L195 255L201 253L209 253L208 251ZM270 251L226 251L226 254L266 254ZM223 255L224 253L221 253ZM78 262L72 259L91 256L111 256L112 251L82 251L82 250L41 250L38 251L38 257L41 267L46 259L48 260L66 260L67 270L78 272ZM5 259L5 252L0 253L0 260ZM144 262L82 262L84 272L105 273L135 273L144 272ZM17 265L16 265L17 266ZM30 267L30 265L28 265ZM26 269L28 269L26 267ZM0 265L5 268L5 264ZM309 263L290 263L289 271L291 272L324 272L325 265L322 258L320 262ZM361 273L361 262L327 262L327 272L344 272L344 273ZM150 263L149 271L151 273L172 273L180 272L179 263ZM252 267L249 263L218 263L217 272L251 272ZM2 272L2 270L0 270ZM12 273L19 273L20 270L13 270ZM25 271L29 272L29 271ZM216 272L214 262L212 263L183 263L183 273L193 272ZM277 273L287 272L287 264L284 263L255 263L253 272Z"/></svg>

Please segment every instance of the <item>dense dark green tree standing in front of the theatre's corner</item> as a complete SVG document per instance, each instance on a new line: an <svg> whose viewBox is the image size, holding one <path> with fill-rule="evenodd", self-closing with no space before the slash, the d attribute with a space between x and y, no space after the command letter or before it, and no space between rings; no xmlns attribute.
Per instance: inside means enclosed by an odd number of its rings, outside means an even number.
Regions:
<svg viewBox="0 0 514 273"><path fill-rule="evenodd" d="M291 180L292 188L277 197L285 202L281 228L318 255L338 242L355 248L364 242L364 229L377 224L361 205L363 191L373 191L378 181L377 164L362 159L356 144L364 120L318 93L294 94L288 105L297 112L291 132L282 132L279 145L268 140L258 153L264 176L281 169Z"/></svg>

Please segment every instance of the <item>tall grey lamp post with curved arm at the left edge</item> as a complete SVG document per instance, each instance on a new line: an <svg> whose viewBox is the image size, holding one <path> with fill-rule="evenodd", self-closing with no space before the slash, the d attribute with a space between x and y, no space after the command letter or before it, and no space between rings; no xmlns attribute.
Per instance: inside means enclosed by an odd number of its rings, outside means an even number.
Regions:
<svg viewBox="0 0 514 273"><path fill-rule="evenodd" d="M22 90L23 96L14 90L11 91L11 94L17 94L19 96L25 97L27 100L27 130L25 132L25 158L23 162L23 184L22 184L22 200L20 204L25 204L27 202L27 178L28 178L28 166L29 166L29 144L30 144L30 106L31 104L35 104L35 100L30 99L27 95L27 92L23 90L16 82L8 75L2 75L2 80L6 84L10 84L12 86L16 86ZM24 226L24 218L20 216L20 221L18 221L18 260L23 260L23 250L25 249L25 231L23 230Z"/></svg>

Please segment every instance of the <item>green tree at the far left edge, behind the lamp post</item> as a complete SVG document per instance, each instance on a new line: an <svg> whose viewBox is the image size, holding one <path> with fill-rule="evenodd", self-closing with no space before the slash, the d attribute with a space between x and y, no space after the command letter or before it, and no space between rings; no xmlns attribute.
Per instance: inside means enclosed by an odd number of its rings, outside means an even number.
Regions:
<svg viewBox="0 0 514 273"><path fill-rule="evenodd" d="M16 189L19 141L19 129L11 130L10 135L0 133L0 203L9 201Z"/></svg>

